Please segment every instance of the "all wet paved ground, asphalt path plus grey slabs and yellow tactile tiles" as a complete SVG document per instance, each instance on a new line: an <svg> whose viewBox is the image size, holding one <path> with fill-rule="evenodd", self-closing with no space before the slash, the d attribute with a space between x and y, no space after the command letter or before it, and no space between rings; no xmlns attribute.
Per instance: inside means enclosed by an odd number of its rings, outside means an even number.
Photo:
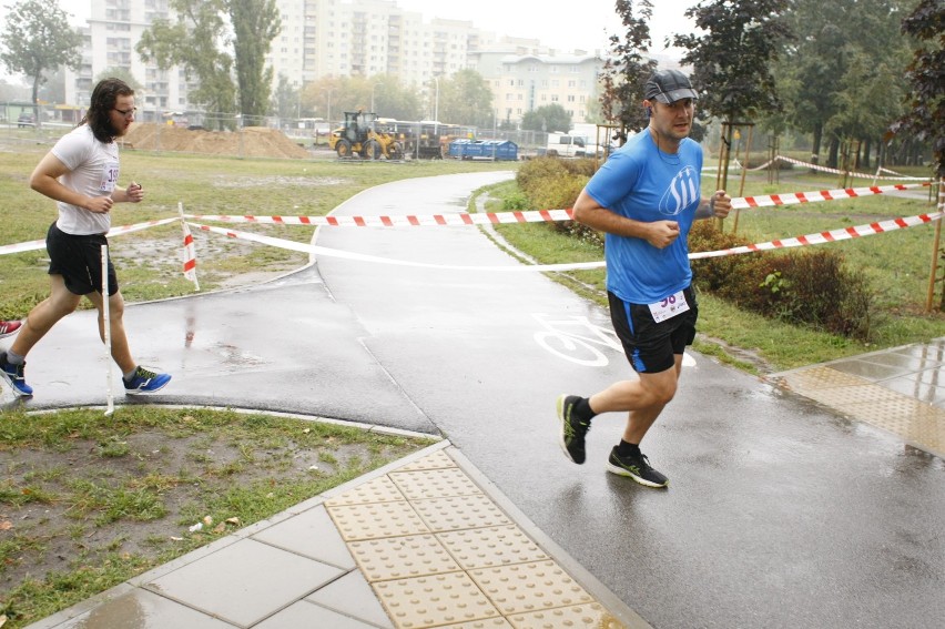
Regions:
<svg viewBox="0 0 945 629"><path fill-rule="evenodd" d="M461 211L482 183L444 177L423 199ZM424 213L414 192L389 186L347 211L390 214L407 199L400 211ZM514 264L478 232L443 230L336 230L318 242ZM283 326L266 325L273 303ZM588 465L563 459L557 393L590 393L628 367L600 337L559 332L577 322L597 334L607 317L543 276L319 258L317 273L282 283L130 311L130 325L153 331L130 329L139 354L177 375L161 403L317 407L447 438L32 629L932 628L945 616L945 338L765 383L693 353L648 445L672 466L671 489L658 491L597 465L618 434L609 419L595 423ZM54 359L64 347L95 355L95 339L78 341L89 336L81 315L31 355L31 384L47 383L38 407L101 404L98 369L74 376ZM555 338L583 338L590 354L561 355ZM257 390L280 395L254 406Z"/></svg>

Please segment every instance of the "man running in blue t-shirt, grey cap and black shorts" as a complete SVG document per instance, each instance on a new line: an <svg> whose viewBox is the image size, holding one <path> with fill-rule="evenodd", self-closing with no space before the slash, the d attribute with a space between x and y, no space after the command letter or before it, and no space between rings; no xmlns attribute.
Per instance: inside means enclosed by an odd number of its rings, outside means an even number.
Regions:
<svg viewBox="0 0 945 629"><path fill-rule="evenodd" d="M648 487L665 487L669 479L650 466L640 442L675 395L683 351L695 337L689 230L697 219L726 216L732 201L723 190L701 196L702 148L689 138L695 99L678 70L650 77L643 100L649 126L610 156L575 203L575 220L604 232L611 321L638 378L590 397L561 395L561 446L582 464L591 419L627 412L607 470Z"/></svg>

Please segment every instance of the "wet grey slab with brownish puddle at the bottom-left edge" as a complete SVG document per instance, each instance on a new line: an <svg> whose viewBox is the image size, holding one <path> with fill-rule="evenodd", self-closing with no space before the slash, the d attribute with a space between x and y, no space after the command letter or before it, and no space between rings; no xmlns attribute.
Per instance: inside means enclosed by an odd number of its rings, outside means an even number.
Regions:
<svg viewBox="0 0 945 629"><path fill-rule="evenodd" d="M55 629L233 629L230 625L154 592L133 589Z"/></svg>

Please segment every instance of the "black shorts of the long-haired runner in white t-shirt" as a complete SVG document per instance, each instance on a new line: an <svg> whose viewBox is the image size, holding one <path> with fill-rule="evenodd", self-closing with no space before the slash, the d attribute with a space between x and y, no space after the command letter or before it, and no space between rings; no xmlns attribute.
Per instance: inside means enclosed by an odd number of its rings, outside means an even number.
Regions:
<svg viewBox="0 0 945 629"><path fill-rule="evenodd" d="M49 274L62 275L65 287L73 295L102 292L102 245L109 244L104 234L73 236L55 223L45 234L49 252ZM115 267L109 255L109 296L119 292Z"/></svg>

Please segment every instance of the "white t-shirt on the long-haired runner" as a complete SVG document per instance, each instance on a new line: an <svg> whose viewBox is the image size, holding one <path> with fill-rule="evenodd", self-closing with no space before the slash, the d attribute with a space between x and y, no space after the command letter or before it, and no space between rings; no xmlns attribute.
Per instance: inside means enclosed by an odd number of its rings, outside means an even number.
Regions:
<svg viewBox="0 0 945 629"><path fill-rule="evenodd" d="M119 177L118 152L115 142L103 144L95 140L88 124L77 126L52 148L52 154L70 171L60 177L60 182L89 196L106 196L114 191ZM58 201L57 206L59 220L55 224L67 234L104 234L111 227L111 214L108 212L89 212L62 201Z"/></svg>

